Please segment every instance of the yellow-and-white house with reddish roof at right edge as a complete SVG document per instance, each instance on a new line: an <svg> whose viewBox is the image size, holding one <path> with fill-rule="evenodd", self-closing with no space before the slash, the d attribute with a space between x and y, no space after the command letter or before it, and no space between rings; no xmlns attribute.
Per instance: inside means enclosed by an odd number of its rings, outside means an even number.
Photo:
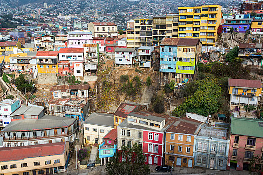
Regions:
<svg viewBox="0 0 263 175"><path fill-rule="evenodd" d="M228 79L230 110L242 111L244 110L243 106L247 105L257 108L261 92L260 80Z"/></svg>

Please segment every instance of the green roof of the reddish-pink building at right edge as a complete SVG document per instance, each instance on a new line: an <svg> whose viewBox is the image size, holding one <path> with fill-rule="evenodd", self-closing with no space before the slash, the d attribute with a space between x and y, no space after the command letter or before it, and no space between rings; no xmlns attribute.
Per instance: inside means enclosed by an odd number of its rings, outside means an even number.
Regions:
<svg viewBox="0 0 263 175"><path fill-rule="evenodd" d="M231 134L263 138L263 119L232 117Z"/></svg>

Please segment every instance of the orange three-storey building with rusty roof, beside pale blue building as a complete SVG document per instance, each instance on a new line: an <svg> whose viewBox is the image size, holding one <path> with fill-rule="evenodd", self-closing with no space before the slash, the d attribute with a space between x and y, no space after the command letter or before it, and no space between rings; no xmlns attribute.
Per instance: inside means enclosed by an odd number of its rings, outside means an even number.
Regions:
<svg viewBox="0 0 263 175"><path fill-rule="evenodd" d="M175 119L175 122L165 131L166 165L194 167L194 137L200 130L201 123L187 117Z"/></svg>

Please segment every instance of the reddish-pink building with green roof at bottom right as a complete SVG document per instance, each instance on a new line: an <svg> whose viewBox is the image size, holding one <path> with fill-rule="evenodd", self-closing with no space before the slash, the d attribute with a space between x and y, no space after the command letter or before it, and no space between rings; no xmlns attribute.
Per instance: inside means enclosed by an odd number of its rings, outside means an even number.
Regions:
<svg viewBox="0 0 263 175"><path fill-rule="evenodd" d="M253 156L262 156L263 120L232 117L227 169L248 170Z"/></svg>

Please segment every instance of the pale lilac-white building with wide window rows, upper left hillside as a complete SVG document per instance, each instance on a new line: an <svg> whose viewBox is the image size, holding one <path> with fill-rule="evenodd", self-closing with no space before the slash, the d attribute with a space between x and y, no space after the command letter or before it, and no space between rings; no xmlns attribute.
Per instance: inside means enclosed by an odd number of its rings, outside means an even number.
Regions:
<svg viewBox="0 0 263 175"><path fill-rule="evenodd" d="M83 48L85 43L92 43L91 31L68 32L68 48Z"/></svg>

